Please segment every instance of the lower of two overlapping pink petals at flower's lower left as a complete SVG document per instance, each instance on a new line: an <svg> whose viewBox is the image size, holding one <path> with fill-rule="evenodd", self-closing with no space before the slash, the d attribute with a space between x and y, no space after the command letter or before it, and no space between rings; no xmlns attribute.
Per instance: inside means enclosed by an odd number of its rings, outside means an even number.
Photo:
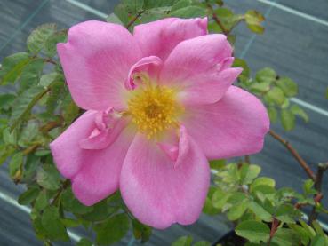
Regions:
<svg viewBox="0 0 328 246"><path fill-rule="evenodd" d="M83 166L72 179L76 198L86 206L116 192L124 157L134 134L129 128L117 137L109 147L101 150L84 150Z"/></svg>

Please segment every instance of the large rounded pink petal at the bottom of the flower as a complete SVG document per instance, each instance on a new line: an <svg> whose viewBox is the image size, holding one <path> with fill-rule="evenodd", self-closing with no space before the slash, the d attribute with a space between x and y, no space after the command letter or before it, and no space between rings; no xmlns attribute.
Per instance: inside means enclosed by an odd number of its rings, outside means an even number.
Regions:
<svg viewBox="0 0 328 246"><path fill-rule="evenodd" d="M155 142L137 134L124 160L120 190L125 204L142 223L164 229L199 218L210 185L202 150L181 128L176 162Z"/></svg>

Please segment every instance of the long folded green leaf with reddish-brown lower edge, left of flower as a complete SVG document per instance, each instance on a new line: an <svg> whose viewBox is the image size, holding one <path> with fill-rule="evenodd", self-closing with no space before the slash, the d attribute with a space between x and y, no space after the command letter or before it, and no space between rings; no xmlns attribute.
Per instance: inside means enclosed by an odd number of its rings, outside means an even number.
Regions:
<svg viewBox="0 0 328 246"><path fill-rule="evenodd" d="M15 107L12 108L11 131L26 119L37 101L42 99L48 91L40 87L31 87L15 100Z"/></svg>

